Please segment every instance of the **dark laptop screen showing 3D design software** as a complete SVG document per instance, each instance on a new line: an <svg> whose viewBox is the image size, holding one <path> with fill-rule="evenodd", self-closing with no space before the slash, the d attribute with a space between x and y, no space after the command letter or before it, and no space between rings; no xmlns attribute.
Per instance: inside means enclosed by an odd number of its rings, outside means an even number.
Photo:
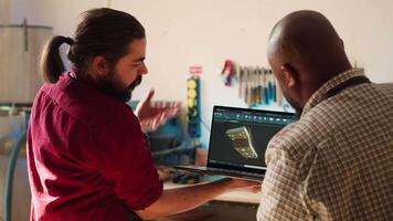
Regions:
<svg viewBox="0 0 393 221"><path fill-rule="evenodd" d="M236 168L265 169L270 138L295 122L291 114L251 109L215 108L209 162Z"/></svg>

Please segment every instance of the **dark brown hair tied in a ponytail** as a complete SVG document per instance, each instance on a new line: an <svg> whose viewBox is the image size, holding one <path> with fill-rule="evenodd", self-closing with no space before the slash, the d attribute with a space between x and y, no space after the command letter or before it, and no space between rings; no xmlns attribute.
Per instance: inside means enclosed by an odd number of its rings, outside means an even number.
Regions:
<svg viewBox="0 0 393 221"><path fill-rule="evenodd" d="M145 29L132 15L108 8L93 9L82 14L74 40L53 36L45 45L40 61L40 70L45 82L56 83L65 71L60 56L60 46L70 44L68 60L84 74L89 62L97 55L104 56L109 64L128 53L128 44L145 38Z"/></svg>

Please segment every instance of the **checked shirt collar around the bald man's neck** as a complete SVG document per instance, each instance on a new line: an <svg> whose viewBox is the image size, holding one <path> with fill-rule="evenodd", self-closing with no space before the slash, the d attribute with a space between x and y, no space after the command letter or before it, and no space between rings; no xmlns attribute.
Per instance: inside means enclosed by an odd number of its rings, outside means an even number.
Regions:
<svg viewBox="0 0 393 221"><path fill-rule="evenodd" d="M339 75L334 76L333 78L329 80L327 83L325 83L321 87L319 87L312 95L311 97L307 101L302 112L301 112L301 117L306 115L312 107L315 107L317 104L322 102L325 95L339 84L355 77L355 76L361 76L364 75L362 69L351 69L346 72L340 73Z"/></svg>

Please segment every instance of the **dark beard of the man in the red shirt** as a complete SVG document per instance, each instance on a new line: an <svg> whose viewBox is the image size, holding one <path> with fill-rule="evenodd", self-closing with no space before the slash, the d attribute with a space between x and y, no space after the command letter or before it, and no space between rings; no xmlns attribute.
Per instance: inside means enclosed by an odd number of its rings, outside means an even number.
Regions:
<svg viewBox="0 0 393 221"><path fill-rule="evenodd" d="M108 77L100 78L98 84L99 87L108 95L120 99L121 102L129 102L132 97L134 90L142 82L142 76L138 75L136 80L131 84L129 84L126 88L118 88L113 83L113 76L115 73L110 72Z"/></svg>

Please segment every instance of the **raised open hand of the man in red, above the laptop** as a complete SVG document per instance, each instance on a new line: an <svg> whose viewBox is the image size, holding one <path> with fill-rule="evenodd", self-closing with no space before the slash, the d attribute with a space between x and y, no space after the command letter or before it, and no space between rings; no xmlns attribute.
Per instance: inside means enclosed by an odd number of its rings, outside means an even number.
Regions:
<svg viewBox="0 0 393 221"><path fill-rule="evenodd" d="M141 99L135 110L139 118L140 127L144 133L153 131L167 119L176 117L180 114L179 102L151 103L155 91L150 90L148 95Z"/></svg>

